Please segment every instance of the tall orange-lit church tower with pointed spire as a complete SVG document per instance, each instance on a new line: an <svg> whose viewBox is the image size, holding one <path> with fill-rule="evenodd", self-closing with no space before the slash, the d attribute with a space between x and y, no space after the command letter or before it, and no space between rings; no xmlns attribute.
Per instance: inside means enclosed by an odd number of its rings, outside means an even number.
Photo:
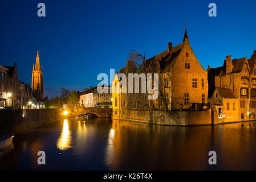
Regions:
<svg viewBox="0 0 256 182"><path fill-rule="evenodd" d="M39 53L37 51L35 67L33 64L33 72L32 72L32 96L36 98L36 100L40 101L43 99L43 68L39 61Z"/></svg>

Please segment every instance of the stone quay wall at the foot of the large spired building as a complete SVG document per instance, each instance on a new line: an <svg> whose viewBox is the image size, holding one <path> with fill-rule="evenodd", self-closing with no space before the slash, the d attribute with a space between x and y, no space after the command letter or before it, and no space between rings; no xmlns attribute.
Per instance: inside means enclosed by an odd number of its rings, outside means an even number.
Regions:
<svg viewBox="0 0 256 182"><path fill-rule="evenodd" d="M212 108L201 111L114 110L113 119L156 125L197 126L217 125Z"/></svg>

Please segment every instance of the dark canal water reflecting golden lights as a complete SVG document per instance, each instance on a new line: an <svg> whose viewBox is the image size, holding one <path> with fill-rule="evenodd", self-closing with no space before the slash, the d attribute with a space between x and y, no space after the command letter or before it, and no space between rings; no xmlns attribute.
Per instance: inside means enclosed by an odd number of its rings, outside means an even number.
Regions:
<svg viewBox="0 0 256 182"><path fill-rule="evenodd" d="M256 169L255 122L176 127L67 119L15 134L0 154L6 170ZM46 165L38 165L38 151ZM208 164L209 151L217 165Z"/></svg>

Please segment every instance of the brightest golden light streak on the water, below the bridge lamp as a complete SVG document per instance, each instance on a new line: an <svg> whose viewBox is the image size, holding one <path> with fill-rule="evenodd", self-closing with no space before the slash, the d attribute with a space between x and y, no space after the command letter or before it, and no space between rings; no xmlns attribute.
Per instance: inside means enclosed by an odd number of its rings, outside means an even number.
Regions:
<svg viewBox="0 0 256 182"><path fill-rule="evenodd" d="M68 127L68 121L67 119L65 119L63 123L62 133L60 134L60 138L57 142L57 147L60 150L67 150L68 148L71 148L70 143L71 143L71 133Z"/></svg>

